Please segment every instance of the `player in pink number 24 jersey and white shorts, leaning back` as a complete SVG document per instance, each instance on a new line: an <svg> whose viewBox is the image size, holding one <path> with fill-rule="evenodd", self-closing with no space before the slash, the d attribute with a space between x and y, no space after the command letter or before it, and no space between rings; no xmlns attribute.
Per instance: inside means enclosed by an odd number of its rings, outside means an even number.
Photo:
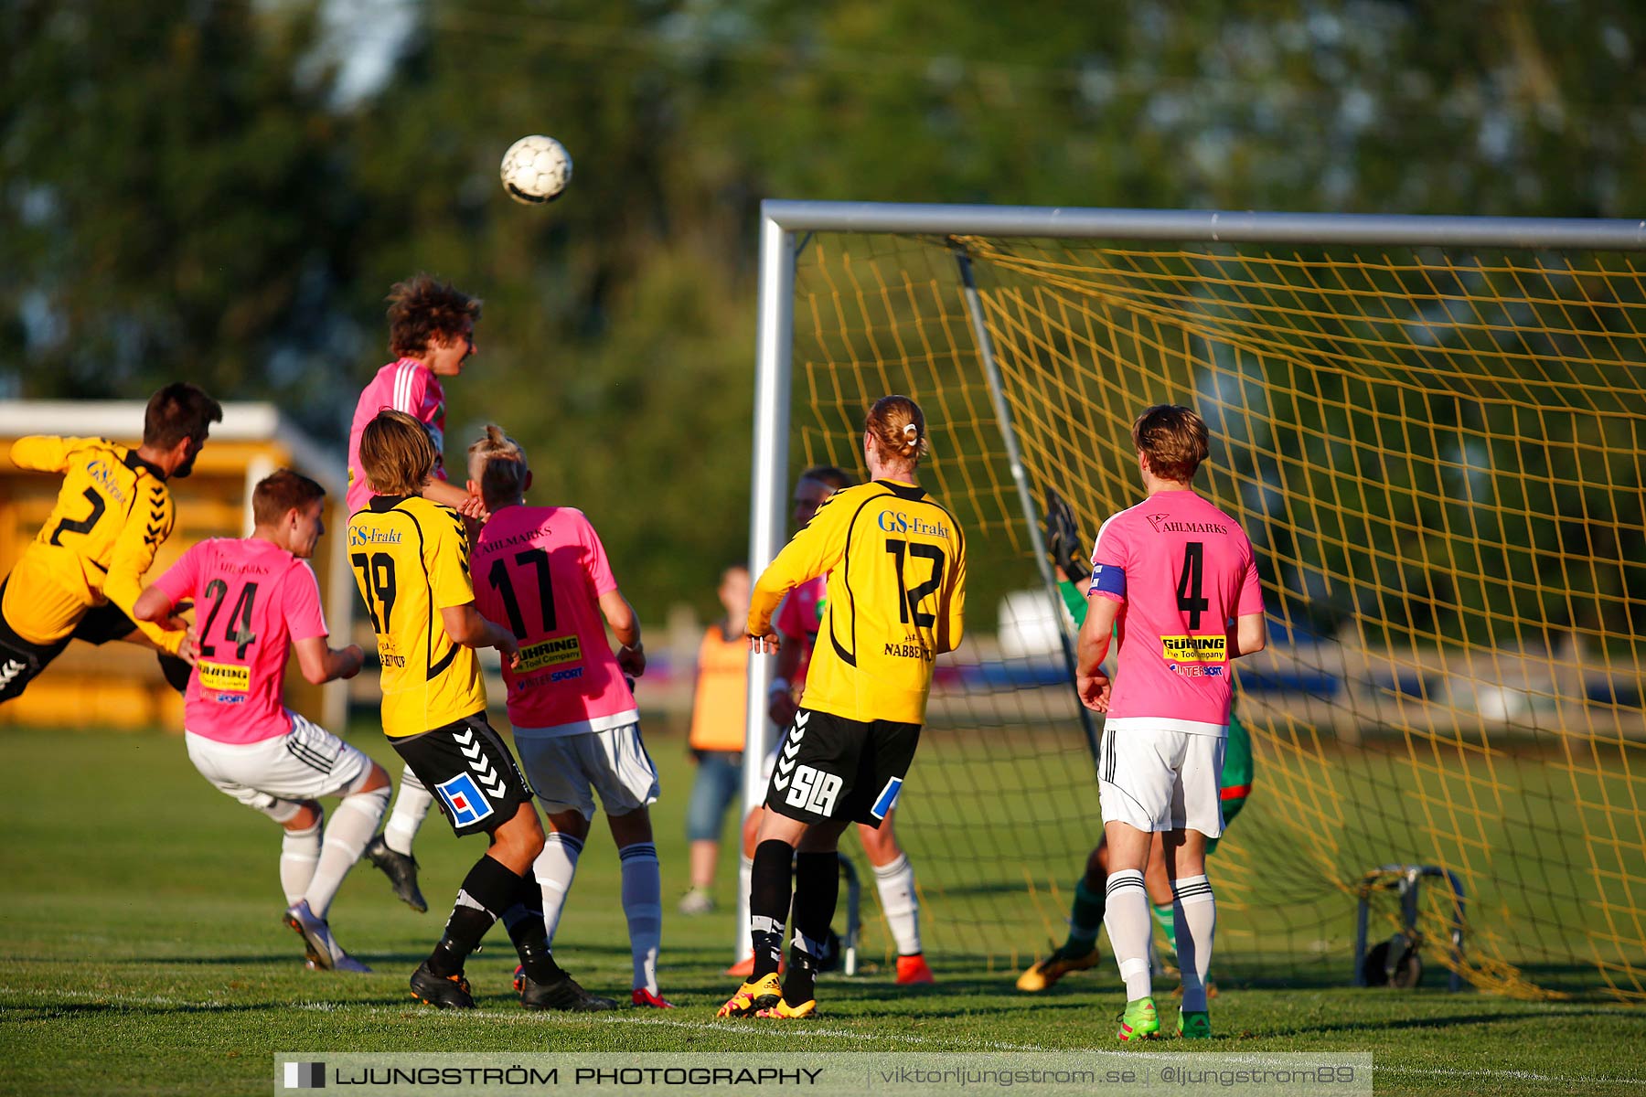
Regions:
<svg viewBox="0 0 1646 1097"><path fill-rule="evenodd" d="M370 970L331 936L328 910L388 806L384 768L281 701L288 646L314 683L354 678L360 648L331 648L319 586L308 566L326 531L326 490L288 469L252 492L249 538L199 541L138 595L140 620L165 623L196 605L196 660L184 697L189 760L219 791L285 827L285 921L309 967ZM341 796L321 840L316 798Z"/></svg>

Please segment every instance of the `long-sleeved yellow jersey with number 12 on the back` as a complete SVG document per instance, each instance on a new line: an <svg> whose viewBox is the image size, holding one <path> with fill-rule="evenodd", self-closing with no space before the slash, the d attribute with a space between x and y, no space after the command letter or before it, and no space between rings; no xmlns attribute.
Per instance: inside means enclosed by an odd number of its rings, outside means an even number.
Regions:
<svg viewBox="0 0 1646 1097"><path fill-rule="evenodd" d="M760 574L749 633L764 635L783 594L825 572L828 609L800 704L848 720L925 724L932 664L965 632L960 523L912 484L835 492Z"/></svg>

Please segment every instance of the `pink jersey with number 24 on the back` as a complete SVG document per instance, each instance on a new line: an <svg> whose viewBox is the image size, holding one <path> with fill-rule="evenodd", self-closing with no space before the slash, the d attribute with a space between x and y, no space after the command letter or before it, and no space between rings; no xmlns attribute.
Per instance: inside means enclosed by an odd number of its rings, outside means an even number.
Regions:
<svg viewBox="0 0 1646 1097"><path fill-rule="evenodd" d="M194 600L194 673L183 724L219 743L291 730L283 702L290 645L324 636L319 584L306 561L262 538L199 541L155 586Z"/></svg>

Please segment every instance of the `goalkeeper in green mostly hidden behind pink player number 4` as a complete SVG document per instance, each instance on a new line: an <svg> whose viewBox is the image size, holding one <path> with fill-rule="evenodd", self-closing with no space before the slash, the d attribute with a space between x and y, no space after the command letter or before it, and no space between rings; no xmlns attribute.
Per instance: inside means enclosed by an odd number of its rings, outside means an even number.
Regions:
<svg viewBox="0 0 1646 1097"><path fill-rule="evenodd" d="M1085 582L1091 574L1090 564L1081 556L1080 531L1075 526L1075 515L1068 503L1057 492L1047 492L1047 548L1057 561L1058 590L1063 604L1075 617L1078 630L1086 620ZM1223 773L1220 780L1223 798L1223 826L1239 814L1251 793L1251 734L1230 712L1230 737L1223 753ZM1207 839L1207 854L1218 845L1218 839ZM1075 903L1068 913L1068 939L1045 959L1035 960L1017 977L1017 988L1034 993L1045 990L1068 972L1080 972L1098 962L1098 929L1103 928L1103 896L1108 877L1108 845L1098 839L1096 849L1086 859L1086 873L1075 885ZM1172 918L1172 882L1165 875L1165 850L1160 847L1160 835L1154 835L1149 849L1149 865L1144 870L1144 888L1149 891L1149 908L1154 923L1165 933L1172 956L1177 956L1177 923ZM1215 993L1215 992L1211 992Z"/></svg>

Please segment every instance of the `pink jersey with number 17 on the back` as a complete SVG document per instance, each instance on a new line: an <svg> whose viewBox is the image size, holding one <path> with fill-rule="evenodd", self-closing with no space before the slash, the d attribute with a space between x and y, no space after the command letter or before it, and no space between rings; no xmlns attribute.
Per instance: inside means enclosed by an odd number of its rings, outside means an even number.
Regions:
<svg viewBox="0 0 1646 1097"><path fill-rule="evenodd" d="M504 507L469 556L474 605L520 641L504 666L515 737L606 732L640 719L606 641L601 595L617 589L581 510Z"/></svg>

